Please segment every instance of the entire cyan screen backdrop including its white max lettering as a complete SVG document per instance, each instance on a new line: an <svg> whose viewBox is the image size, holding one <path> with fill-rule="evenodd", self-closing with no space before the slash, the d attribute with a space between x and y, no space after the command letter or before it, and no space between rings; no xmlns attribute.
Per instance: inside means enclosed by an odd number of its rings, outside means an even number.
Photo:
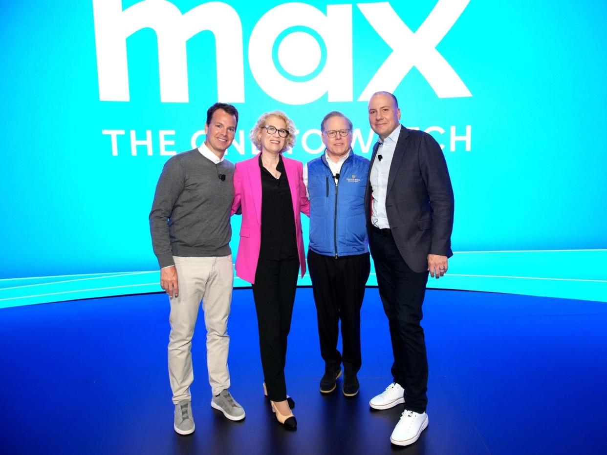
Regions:
<svg viewBox="0 0 607 455"><path fill-rule="evenodd" d="M257 117L282 109L299 130L288 156L307 162L330 110L370 157L376 90L444 147L455 255L429 286L607 302L605 2L1 8L0 308L160 291L155 184L202 143L215 101L240 111L229 160L252 157ZM232 229L236 254L239 217Z"/></svg>

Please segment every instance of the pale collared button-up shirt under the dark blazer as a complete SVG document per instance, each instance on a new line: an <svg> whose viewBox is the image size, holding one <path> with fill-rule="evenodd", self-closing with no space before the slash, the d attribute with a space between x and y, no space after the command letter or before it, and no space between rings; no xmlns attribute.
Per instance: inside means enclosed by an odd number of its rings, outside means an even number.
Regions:
<svg viewBox="0 0 607 455"><path fill-rule="evenodd" d="M384 141L378 139L378 152L375 154L375 160L371 166L370 183L371 189L371 224L379 229L389 229L388 214L385 211L385 197L388 190L388 175L390 175L390 164L394 157L394 150L398 142L398 136L401 133L401 124L399 124ZM382 159L379 160L379 155Z"/></svg>

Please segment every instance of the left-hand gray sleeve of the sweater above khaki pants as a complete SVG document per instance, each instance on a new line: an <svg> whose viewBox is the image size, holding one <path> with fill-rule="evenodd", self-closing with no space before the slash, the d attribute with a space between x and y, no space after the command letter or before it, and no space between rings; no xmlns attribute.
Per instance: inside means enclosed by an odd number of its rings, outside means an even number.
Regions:
<svg viewBox="0 0 607 455"><path fill-rule="evenodd" d="M174 265L169 218L171 218L175 202L185 186L185 173L180 160L176 158L173 157L164 164L149 214L152 248L154 248L160 268Z"/></svg>

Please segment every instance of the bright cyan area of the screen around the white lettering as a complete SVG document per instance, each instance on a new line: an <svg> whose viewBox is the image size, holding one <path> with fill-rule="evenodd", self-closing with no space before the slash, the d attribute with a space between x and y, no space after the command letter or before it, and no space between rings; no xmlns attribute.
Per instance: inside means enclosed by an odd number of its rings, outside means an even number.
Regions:
<svg viewBox="0 0 607 455"><path fill-rule="evenodd" d="M123 8L134 3L123 1ZM173 3L184 13L202 2ZM326 12L325 2L307 3ZM237 104L239 129L246 137L260 113L283 109L304 132L319 128L329 110L342 110L366 138L366 102L328 103L325 95L290 106L257 86L248 38L278 4L230 2L243 28L246 103ZM415 31L436 2L391 4ZM203 129L206 109L217 100L214 36L202 32L188 41L189 103L160 102L150 29L127 39L131 101L102 102L91 1L4 2L1 8L0 307L160 290L154 273L86 285L82 289L100 288L88 294L47 286L71 279L63 275L157 270L148 213L168 159L160 156L158 130L176 130L168 148L181 151ZM356 4L352 15L356 100L391 50ZM473 96L438 98L415 67L395 90L405 126L453 125L458 135L472 126L470 152L462 141L450 152L449 132L433 133L447 144L456 254L452 276L430 286L607 301L606 21L600 1L472 0L436 49ZM126 130L117 157L103 129ZM153 156L144 147L131 156L131 129L138 139L152 130ZM358 146L354 151L360 153ZM228 152L231 161L251 156L249 143L244 156L234 147ZM291 157L314 158L300 143ZM232 221L234 254L239 223ZM308 283L307 276L300 281ZM375 283L371 275L369 284Z"/></svg>

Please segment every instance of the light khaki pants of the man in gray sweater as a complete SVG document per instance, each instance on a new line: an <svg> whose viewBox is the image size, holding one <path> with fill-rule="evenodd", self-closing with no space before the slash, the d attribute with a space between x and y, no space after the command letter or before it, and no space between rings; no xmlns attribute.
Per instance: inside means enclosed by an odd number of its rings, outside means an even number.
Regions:
<svg viewBox="0 0 607 455"><path fill-rule="evenodd" d="M169 380L173 403L191 400L194 381L192 337L202 300L206 326L206 365L212 394L229 388L228 316L234 273L232 255L173 257L177 268L178 297L170 297Z"/></svg>

